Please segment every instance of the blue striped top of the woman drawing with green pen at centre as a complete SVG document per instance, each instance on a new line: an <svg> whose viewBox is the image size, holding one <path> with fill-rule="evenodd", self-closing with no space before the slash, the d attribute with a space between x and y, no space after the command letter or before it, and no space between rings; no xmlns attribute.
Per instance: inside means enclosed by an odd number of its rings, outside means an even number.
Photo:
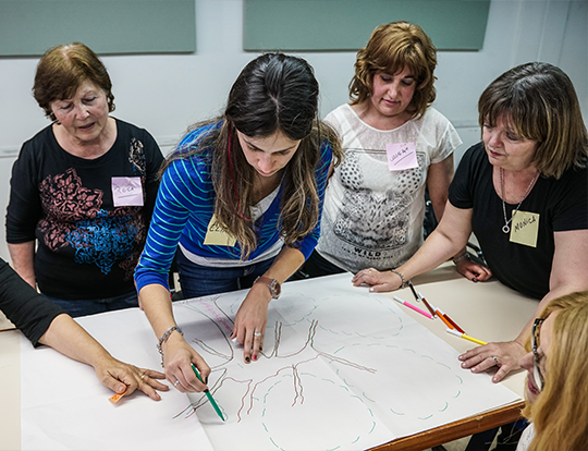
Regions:
<svg viewBox="0 0 588 451"><path fill-rule="evenodd" d="M180 148L197 143L205 134L218 129L222 122L206 125L187 134ZM321 157L316 168L317 191L322 214L324 188L332 160L331 144L321 144ZM173 161L166 170L151 217L145 249L135 270L137 291L143 287L158 283L168 287L168 273L180 243L187 252L204 258L241 260L241 246L205 245L208 224L215 212L216 193L211 178L212 149L194 155L187 159ZM254 260L280 240L280 214L283 185L279 193L256 222L258 245L248 256ZM317 245L320 234L320 219L315 229L297 243L297 248L308 258Z"/></svg>

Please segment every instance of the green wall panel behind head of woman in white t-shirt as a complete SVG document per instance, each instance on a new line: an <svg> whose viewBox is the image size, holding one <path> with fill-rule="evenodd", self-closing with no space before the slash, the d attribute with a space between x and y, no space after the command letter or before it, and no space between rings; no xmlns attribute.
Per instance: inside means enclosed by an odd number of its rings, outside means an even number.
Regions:
<svg viewBox="0 0 588 451"><path fill-rule="evenodd" d="M244 0L247 51L364 47L378 25L420 25L439 50L483 47L490 0Z"/></svg>

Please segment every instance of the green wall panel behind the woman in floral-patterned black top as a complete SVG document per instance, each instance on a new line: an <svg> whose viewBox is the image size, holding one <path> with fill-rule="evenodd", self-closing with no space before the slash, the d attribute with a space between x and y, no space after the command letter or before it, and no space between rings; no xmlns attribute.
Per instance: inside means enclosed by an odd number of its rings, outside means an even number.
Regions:
<svg viewBox="0 0 588 451"><path fill-rule="evenodd" d="M0 57L81 41L97 53L196 51L194 0L0 0Z"/></svg>

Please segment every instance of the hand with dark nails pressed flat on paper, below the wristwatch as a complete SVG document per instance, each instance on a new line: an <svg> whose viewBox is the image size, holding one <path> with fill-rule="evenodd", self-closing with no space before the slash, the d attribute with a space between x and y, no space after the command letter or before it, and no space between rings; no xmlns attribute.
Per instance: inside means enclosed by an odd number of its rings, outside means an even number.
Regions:
<svg viewBox="0 0 588 451"><path fill-rule="evenodd" d="M231 339L236 338L243 344L245 363L257 361L264 348L270 301L271 293L268 288L262 283L254 283L238 308Z"/></svg>

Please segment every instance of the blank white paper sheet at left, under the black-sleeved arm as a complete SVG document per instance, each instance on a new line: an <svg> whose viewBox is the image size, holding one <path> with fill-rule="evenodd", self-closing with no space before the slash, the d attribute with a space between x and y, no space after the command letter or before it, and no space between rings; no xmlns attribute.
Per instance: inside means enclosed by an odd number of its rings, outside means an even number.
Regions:
<svg viewBox="0 0 588 451"><path fill-rule="evenodd" d="M161 369L154 332L138 308L78 322L117 358ZM152 401L135 392L113 404L113 392L91 367L50 348L35 350L24 336L21 390L23 450L212 450L196 417L171 419L185 407L185 394L171 389Z"/></svg>

